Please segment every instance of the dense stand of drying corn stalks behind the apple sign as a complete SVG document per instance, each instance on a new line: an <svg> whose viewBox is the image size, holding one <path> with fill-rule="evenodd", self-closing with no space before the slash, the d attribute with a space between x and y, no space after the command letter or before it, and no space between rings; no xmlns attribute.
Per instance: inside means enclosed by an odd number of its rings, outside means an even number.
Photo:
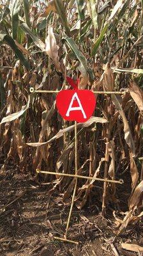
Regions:
<svg viewBox="0 0 143 256"><path fill-rule="evenodd" d="M69 76L80 90L105 92L77 124L77 174L123 184L80 179L75 206L98 204L102 218L111 211L116 236L143 216L142 26L142 0L0 3L1 175L15 164L70 205L75 179L36 170L74 173L74 122L57 112L55 93L29 89L69 89Z"/></svg>

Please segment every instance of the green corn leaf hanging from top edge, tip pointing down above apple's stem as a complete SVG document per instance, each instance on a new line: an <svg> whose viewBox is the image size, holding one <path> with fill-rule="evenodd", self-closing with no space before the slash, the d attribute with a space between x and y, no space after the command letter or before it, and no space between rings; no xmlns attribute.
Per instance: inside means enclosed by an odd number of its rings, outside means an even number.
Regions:
<svg viewBox="0 0 143 256"><path fill-rule="evenodd" d="M64 4L62 0L54 0L57 13L59 14L59 17L61 19L61 22L64 26L64 29L66 31L66 34L70 36L70 28L68 24L68 20L66 19L66 12L64 10Z"/></svg>

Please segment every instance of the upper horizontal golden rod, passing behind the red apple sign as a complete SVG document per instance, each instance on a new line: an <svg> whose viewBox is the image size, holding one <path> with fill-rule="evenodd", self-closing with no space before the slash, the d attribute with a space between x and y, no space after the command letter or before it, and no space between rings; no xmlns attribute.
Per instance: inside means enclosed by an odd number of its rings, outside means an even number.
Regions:
<svg viewBox="0 0 143 256"><path fill-rule="evenodd" d="M31 93L58 93L61 91L51 91L51 90L34 90L33 87L30 88ZM91 91L95 94L124 94L126 92L98 92L98 91Z"/></svg>

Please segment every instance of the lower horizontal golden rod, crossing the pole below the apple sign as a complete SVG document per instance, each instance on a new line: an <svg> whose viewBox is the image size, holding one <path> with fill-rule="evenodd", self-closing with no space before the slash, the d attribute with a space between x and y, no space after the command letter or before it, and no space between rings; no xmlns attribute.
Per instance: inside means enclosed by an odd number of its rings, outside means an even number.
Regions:
<svg viewBox="0 0 143 256"><path fill-rule="evenodd" d="M79 179L98 180L98 181L103 181L103 182L123 184L123 180L109 180L109 179L102 179L102 178L93 178L93 177L90 177L90 176L82 176L82 175L75 175L75 174L69 174L69 173L41 171L39 169L36 169L36 172L37 173L51 174L51 175L73 177L73 178L79 178Z"/></svg>

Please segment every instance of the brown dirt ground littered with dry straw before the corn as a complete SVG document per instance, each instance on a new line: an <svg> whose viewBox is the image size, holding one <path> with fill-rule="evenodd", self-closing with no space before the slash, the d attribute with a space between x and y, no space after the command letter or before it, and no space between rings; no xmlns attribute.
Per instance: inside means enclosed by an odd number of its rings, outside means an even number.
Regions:
<svg viewBox="0 0 143 256"><path fill-rule="evenodd" d="M115 255L112 243L118 255L139 255L123 250L121 243L142 246L142 223L116 237L112 211L102 218L101 202L92 199L84 209L73 209L68 238L79 241L79 246L61 243L53 236L63 236L66 227L70 207L63 204L63 195L59 191L49 195L52 184L34 181L13 164L0 173L0 180L1 256L112 256ZM123 191L118 193L120 197L123 195ZM124 208L123 201L118 205L120 209ZM112 209L112 205L109 208Z"/></svg>

